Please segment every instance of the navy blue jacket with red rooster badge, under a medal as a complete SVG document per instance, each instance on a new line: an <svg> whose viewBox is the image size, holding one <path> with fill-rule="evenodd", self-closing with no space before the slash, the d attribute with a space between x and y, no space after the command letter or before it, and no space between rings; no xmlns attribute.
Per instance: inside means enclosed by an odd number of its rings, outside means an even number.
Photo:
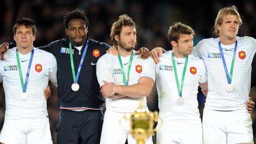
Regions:
<svg viewBox="0 0 256 144"><path fill-rule="evenodd" d="M89 46L78 79L80 86L78 91L72 91L71 89L73 77L68 37L66 39L53 41L47 46L39 47L39 49L52 53L57 59L57 95L59 97L60 108L103 108L102 104L104 103L104 99L101 96L100 86L97 81L95 63L97 63L100 56L105 54L105 51L109 47L110 46L106 43L89 39ZM79 50L72 46L75 75L84 48L85 47L82 47L81 54L79 55Z"/></svg>

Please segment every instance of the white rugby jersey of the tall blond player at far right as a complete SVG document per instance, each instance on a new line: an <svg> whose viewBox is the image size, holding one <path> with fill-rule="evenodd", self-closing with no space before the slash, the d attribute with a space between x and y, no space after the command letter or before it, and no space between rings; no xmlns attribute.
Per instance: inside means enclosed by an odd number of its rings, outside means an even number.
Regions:
<svg viewBox="0 0 256 144"><path fill-rule="evenodd" d="M233 76L231 84L232 92L226 91L228 80L220 56L219 38L201 40L194 47L194 53L204 60L208 77L208 94L206 108L210 110L241 110L246 109L245 102L248 100L251 84L251 64L256 52L256 40L252 37L236 37L238 43ZM221 44L223 55L226 60L228 73L230 74L231 62L235 51L235 43L225 46Z"/></svg>

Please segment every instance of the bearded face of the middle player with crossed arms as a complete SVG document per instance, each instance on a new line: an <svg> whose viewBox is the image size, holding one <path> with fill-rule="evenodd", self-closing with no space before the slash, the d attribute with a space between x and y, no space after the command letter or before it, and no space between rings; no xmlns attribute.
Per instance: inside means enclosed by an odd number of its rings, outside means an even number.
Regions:
<svg viewBox="0 0 256 144"><path fill-rule="evenodd" d="M135 49L136 46L136 28L131 26L123 26L121 28L120 37L116 37L119 46L128 52Z"/></svg>

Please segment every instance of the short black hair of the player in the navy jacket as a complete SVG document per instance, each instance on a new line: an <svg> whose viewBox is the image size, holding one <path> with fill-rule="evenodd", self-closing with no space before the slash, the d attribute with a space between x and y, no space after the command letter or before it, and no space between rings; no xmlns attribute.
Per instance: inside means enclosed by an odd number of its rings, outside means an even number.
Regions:
<svg viewBox="0 0 256 144"><path fill-rule="evenodd" d="M75 9L71 12L66 12L63 17L63 26L68 29L68 24L73 19L81 19L84 21L85 26L88 28L89 20L87 16L85 15L85 12L81 9Z"/></svg>

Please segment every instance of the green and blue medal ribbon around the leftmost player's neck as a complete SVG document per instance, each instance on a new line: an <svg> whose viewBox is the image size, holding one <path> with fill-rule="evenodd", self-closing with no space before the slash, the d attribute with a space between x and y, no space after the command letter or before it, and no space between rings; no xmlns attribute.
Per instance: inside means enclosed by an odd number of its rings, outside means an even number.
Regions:
<svg viewBox="0 0 256 144"><path fill-rule="evenodd" d="M28 63L27 75L26 75L25 84L24 84L23 74L21 72L20 57L18 55L18 50L16 50L16 59L17 59L17 63L18 63L18 71L20 74L21 88L23 89L23 92L26 92L26 90L27 90L27 83L28 83L28 78L29 78L29 74L30 74L30 68L31 68L33 56L34 56L34 49L32 49L32 51L31 51L30 61Z"/></svg>

